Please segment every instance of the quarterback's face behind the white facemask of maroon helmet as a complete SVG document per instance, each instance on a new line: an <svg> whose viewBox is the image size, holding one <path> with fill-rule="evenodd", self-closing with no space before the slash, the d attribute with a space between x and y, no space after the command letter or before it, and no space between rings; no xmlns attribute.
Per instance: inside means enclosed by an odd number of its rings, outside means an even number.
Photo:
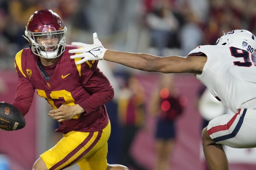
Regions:
<svg viewBox="0 0 256 170"><path fill-rule="evenodd" d="M41 35L36 38L37 43L41 46L41 50L46 52L53 52L57 49L59 43L59 37L57 35ZM46 46L45 46L46 45Z"/></svg>

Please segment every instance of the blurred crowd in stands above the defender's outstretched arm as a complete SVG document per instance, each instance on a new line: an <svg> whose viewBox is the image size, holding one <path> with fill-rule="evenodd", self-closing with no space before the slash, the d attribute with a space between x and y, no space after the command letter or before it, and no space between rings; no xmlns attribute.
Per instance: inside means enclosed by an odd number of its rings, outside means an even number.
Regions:
<svg viewBox="0 0 256 170"><path fill-rule="evenodd" d="M187 55L195 46L213 44L232 29L256 33L255 0L0 0L0 68L12 67L28 18L52 9L68 28L67 44L91 43L97 32L104 46L129 52ZM151 51L150 51L151 52Z"/></svg>

